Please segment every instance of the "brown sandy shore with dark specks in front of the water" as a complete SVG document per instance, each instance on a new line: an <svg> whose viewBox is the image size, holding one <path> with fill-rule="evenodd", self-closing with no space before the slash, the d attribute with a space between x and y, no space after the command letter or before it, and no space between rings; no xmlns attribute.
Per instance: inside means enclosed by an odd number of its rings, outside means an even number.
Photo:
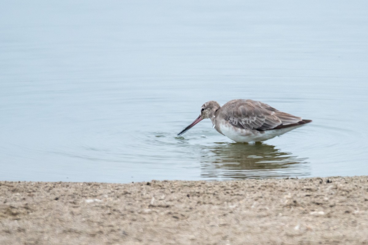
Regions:
<svg viewBox="0 0 368 245"><path fill-rule="evenodd" d="M368 177L0 182L0 244L368 244Z"/></svg>

